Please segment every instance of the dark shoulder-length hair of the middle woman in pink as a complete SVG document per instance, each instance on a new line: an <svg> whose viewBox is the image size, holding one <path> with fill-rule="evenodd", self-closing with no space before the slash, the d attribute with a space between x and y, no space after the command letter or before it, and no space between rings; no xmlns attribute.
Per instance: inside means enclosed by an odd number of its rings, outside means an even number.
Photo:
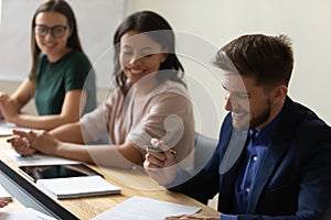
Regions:
<svg viewBox="0 0 331 220"><path fill-rule="evenodd" d="M162 16L152 11L140 11L127 16L114 35L114 74L116 84L124 94L126 94L125 86L127 77L119 64L119 53L120 38L128 31L136 31L149 35L166 51L167 59L160 65L159 70L167 69L167 74L158 73L158 79L171 79L184 85L182 81L184 68L174 53L174 33L170 24Z"/></svg>

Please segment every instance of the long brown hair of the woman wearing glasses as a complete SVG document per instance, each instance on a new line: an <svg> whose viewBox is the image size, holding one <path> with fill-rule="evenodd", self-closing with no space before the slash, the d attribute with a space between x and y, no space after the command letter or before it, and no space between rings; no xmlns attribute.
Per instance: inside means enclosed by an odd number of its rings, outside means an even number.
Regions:
<svg viewBox="0 0 331 220"><path fill-rule="evenodd" d="M66 20L70 30L72 31L72 35L70 36L67 41L67 46L71 48L78 50L83 53L83 48L81 45L81 41L78 37L78 31L77 31L77 23L75 19L75 14L72 10L72 8L65 2L64 0L49 0L42 3L36 11L34 12L34 15L32 18L32 25L31 25L31 53L32 53L32 67L31 67L31 74L32 79L35 79L35 72L36 72L36 65L38 59L41 53L41 50L36 45L35 36L34 36L34 26L35 26L35 18L38 14L42 12L56 12L63 14Z"/></svg>

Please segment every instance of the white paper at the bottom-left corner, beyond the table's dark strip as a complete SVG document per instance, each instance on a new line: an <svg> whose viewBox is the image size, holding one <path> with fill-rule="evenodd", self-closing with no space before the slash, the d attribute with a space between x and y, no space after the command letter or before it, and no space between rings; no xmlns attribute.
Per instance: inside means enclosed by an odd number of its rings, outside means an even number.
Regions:
<svg viewBox="0 0 331 220"><path fill-rule="evenodd" d="M10 205L9 205L10 206ZM40 211L36 211L32 208L25 208L18 211L8 211L8 212L0 212L1 220L56 220L53 217L44 215Z"/></svg>

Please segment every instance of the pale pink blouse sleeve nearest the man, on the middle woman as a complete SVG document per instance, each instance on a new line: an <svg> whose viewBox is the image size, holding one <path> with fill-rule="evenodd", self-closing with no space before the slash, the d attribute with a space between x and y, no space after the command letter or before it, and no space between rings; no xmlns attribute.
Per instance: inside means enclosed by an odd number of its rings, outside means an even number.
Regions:
<svg viewBox="0 0 331 220"><path fill-rule="evenodd" d="M178 152L181 161L194 145L194 119L186 92L163 91L152 95L143 105L141 122L130 130L130 141L142 154L152 138L162 140Z"/></svg>

